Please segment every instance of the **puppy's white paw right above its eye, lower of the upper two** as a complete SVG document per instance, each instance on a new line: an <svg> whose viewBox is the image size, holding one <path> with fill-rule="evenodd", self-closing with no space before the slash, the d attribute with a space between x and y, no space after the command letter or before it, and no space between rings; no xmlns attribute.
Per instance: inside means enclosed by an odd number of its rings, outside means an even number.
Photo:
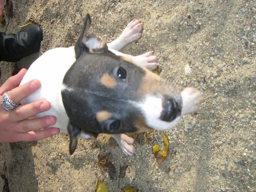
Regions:
<svg viewBox="0 0 256 192"><path fill-rule="evenodd" d="M158 64L158 57L153 55L153 51L146 52L142 55L133 56L131 60L138 66L145 67L149 70L154 70Z"/></svg>

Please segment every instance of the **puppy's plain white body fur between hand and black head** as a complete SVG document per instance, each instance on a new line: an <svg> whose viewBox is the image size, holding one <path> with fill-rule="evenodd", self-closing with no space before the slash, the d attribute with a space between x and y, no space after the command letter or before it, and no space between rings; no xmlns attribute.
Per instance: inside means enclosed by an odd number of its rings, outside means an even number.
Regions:
<svg viewBox="0 0 256 192"><path fill-rule="evenodd" d="M61 98L63 78L72 64L75 62L74 47L55 48L40 56L27 71L20 84L25 84L32 79L41 82L41 88L23 99L22 104L30 103L39 99L46 99L51 104L51 109L39 113L36 117L54 115L56 124L52 127L60 129L61 133L67 132L68 116Z"/></svg>

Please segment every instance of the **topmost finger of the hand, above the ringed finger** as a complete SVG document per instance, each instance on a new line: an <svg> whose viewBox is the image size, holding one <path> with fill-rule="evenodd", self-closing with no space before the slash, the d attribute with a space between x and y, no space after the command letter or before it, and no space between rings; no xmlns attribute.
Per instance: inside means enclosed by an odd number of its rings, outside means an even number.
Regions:
<svg viewBox="0 0 256 192"><path fill-rule="evenodd" d="M26 72L26 69L22 69L20 70L20 72L18 72L18 74L9 77L9 79L7 79L5 83L2 84L2 86L0 87L0 95L3 95L6 91L16 88L20 84L20 81L22 80Z"/></svg>

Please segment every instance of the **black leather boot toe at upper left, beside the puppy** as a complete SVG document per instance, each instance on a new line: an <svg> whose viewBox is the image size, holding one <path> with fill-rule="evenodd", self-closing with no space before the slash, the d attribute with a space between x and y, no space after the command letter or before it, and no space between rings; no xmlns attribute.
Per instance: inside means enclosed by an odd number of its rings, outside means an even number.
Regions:
<svg viewBox="0 0 256 192"><path fill-rule="evenodd" d="M43 30L39 25L31 24L17 34L0 32L0 61L16 62L36 53L43 40Z"/></svg>

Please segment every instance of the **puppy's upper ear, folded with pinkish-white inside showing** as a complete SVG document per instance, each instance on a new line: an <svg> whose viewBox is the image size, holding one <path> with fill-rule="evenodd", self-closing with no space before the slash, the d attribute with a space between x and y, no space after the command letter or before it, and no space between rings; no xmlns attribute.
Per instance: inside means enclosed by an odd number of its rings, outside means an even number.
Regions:
<svg viewBox="0 0 256 192"><path fill-rule="evenodd" d="M87 14L84 20L84 27L82 33L79 36L77 43L75 44L76 59L78 59L83 52L99 53L106 52L107 50L107 45L105 41L102 41L99 38L93 36L88 36L88 31L90 27L91 17L89 14Z"/></svg>

